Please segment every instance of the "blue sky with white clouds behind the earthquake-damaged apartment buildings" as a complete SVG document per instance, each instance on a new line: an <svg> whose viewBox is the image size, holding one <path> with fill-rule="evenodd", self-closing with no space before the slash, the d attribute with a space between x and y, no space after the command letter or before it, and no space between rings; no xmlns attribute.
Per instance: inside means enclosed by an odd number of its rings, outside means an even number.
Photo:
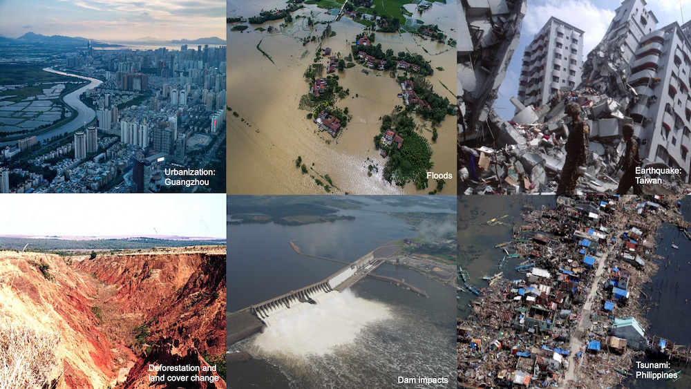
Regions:
<svg viewBox="0 0 691 389"><path fill-rule="evenodd" d="M679 0L655 0L647 1L647 10L652 10L659 20L657 27L667 26L674 21L681 25L683 21L691 19L691 0L681 0L681 12ZM545 26L550 17L561 19L572 26L585 31L583 36L583 58L587 57L590 50L600 43L605 35L609 23L614 17L614 10L621 5L621 1L611 0L581 0L581 1L548 1L528 0L527 12L523 19L520 43L516 48L511 64L507 70L499 89L499 97L494 106L504 120L511 120L515 107L509 99L518 94L518 76L523 60L523 52L533 41L536 32ZM683 15L683 21L682 21Z"/></svg>

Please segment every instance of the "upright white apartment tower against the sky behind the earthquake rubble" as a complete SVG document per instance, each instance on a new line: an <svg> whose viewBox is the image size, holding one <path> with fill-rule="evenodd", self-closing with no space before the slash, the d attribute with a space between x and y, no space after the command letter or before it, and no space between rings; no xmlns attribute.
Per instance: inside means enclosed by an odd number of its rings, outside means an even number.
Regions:
<svg viewBox="0 0 691 389"><path fill-rule="evenodd" d="M518 100L536 108L549 102L562 86L580 84L583 30L551 17L523 54Z"/></svg>

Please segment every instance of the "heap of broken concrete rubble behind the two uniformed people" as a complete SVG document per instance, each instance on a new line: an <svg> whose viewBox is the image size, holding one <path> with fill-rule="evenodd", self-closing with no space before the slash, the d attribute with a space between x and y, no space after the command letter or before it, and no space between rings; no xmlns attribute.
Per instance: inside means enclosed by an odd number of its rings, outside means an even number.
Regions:
<svg viewBox="0 0 691 389"><path fill-rule="evenodd" d="M487 124L496 134L491 144L494 147L460 145L460 192L466 195L555 192L566 158L569 119L564 108L569 102L580 104L581 117L590 128L587 171L578 179L576 190L582 193L616 191L623 175L623 171L615 171L616 164L625 151L621 129L624 124L633 122L625 115L620 102L594 88L558 93L549 106L538 110L522 106L515 98L511 102L520 110L512 120L501 120L495 113L489 116ZM644 162L643 168L657 165ZM646 185L644 190L676 194L685 188L679 175L660 178L663 184Z"/></svg>

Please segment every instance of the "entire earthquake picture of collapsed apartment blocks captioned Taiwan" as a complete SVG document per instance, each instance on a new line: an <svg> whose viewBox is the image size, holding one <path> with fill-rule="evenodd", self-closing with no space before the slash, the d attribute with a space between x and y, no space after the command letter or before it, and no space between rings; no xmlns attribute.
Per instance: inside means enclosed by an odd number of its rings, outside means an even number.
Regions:
<svg viewBox="0 0 691 389"><path fill-rule="evenodd" d="M458 193L688 193L682 3L460 1Z"/></svg>

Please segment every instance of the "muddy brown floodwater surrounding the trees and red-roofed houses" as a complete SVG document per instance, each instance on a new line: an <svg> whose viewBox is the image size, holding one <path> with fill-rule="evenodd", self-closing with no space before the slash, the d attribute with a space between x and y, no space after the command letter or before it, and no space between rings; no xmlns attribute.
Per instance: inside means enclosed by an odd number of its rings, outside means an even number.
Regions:
<svg viewBox="0 0 691 389"><path fill-rule="evenodd" d="M263 3L259 7L228 1L228 16L250 17L257 15L261 8L282 8L283 4ZM455 37L454 6L453 3L434 3L433 8L422 17L415 13L413 18L421 19L426 24L435 23L446 35ZM414 10L415 6L408 5L406 8ZM325 11L307 5L293 15L309 16L313 12L314 21L332 20L333 16ZM272 21L263 23L261 27L279 28L281 23ZM334 184L333 193L426 194L435 187L436 182L430 180L430 189L417 191L412 183L397 187L381 178L386 160L375 150L372 137L379 133L381 117L390 114L396 105L403 105L397 97L401 88L389 72L369 69L369 74L366 74L362 72L363 67L357 65L334 73L339 75L339 85L350 89L350 95L339 100L336 106L348 107L352 115L347 128L334 140L327 133L317 131L312 120L307 120L306 115L310 111L298 108L300 97L307 94L309 88L303 73L313 63L319 48L318 42L303 46L300 39L310 35L310 32L321 36L325 25L314 27L317 34L307 26L307 19L294 19L292 26L274 34L254 31L254 25L245 32L234 32L230 30L234 25L228 28L227 104L239 116L231 115L232 111L227 115L229 194L325 193L310 175L324 181L319 175L326 174ZM347 57L350 44L362 29L360 24L343 17L332 23L332 30L337 35L325 39L322 47L330 47L332 53ZM274 63L257 50L259 41L260 48L272 57ZM409 33L376 32L375 44L381 44L383 50L391 48L394 53L407 49L410 53L423 55L431 61L433 68L444 68L443 71L435 69L435 74L428 80L437 94L448 97L451 102L455 101L455 49ZM322 57L321 63L328 64L328 57ZM446 90L442 83L452 92ZM358 97L354 97L356 93ZM419 133L430 140L430 123L416 122L420 127ZM453 117L447 116L437 129L437 142L433 144L430 140L435 173L448 172L455 176L454 123ZM310 167L310 175L296 169L294 160L298 156ZM379 166L379 173L368 176L370 164ZM455 187L455 178L446 180L442 193L455 193Z"/></svg>

